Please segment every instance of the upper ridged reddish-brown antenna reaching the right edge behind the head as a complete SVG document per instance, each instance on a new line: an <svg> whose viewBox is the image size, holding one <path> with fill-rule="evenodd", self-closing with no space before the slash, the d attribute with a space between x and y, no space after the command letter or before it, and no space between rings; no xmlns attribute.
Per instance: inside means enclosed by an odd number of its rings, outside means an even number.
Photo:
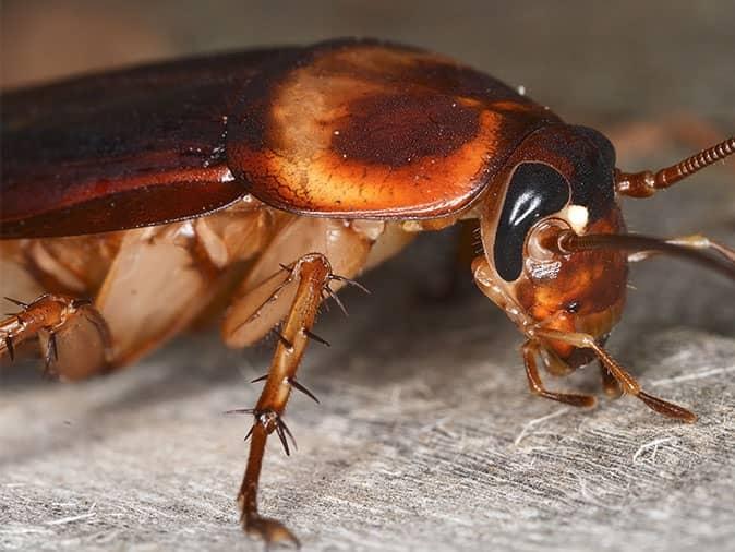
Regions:
<svg viewBox="0 0 735 552"><path fill-rule="evenodd" d="M615 191L630 197L650 197L658 190L668 188L679 180L733 154L735 154L735 136L728 137L712 147L702 149L698 154L687 157L676 165L661 169L655 173L650 170L622 172L616 169Z"/></svg>

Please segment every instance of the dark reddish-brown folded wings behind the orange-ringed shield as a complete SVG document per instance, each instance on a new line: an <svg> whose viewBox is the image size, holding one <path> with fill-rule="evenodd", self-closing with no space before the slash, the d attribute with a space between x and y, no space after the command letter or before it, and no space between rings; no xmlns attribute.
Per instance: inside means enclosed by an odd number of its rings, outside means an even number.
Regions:
<svg viewBox="0 0 735 552"><path fill-rule="evenodd" d="M181 219L245 193L225 164L226 116L288 49L159 63L4 94L0 237Z"/></svg>

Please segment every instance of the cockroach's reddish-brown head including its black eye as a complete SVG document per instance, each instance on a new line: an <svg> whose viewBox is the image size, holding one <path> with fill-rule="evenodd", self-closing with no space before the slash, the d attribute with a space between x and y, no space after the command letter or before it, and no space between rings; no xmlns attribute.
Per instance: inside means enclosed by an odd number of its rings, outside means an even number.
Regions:
<svg viewBox="0 0 735 552"><path fill-rule="evenodd" d="M607 139L592 129L554 124L529 135L493 182L481 215L483 247L507 302L502 307L522 313L517 323L603 339L617 322L626 255L557 247L563 231L625 230L614 175L615 151ZM573 352L568 346L556 350L568 362L582 363Z"/></svg>

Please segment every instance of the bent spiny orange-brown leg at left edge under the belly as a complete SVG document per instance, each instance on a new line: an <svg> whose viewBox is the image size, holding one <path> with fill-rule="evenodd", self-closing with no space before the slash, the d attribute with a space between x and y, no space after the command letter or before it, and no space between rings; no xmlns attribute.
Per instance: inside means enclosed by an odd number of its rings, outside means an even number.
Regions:
<svg viewBox="0 0 735 552"><path fill-rule="evenodd" d="M15 358L16 347L25 340L40 338L44 358L44 374L77 379L88 373L67 373L59 363L58 335L77 321L80 316L92 323L103 344L103 361L95 367L104 371L111 358L111 336L103 315L89 300L68 296L45 293L31 303L5 298L21 307L21 311L0 322L0 355L8 351L11 360Z"/></svg>

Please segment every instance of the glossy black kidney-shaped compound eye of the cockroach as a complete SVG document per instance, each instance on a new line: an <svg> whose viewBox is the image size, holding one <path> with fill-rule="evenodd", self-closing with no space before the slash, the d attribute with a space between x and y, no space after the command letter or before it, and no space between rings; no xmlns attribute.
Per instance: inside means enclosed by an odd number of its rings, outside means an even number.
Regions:
<svg viewBox="0 0 735 552"><path fill-rule="evenodd" d="M541 218L558 213L569 202L569 184L549 165L523 163L510 178L495 232L495 269L514 281L523 269L526 235Z"/></svg>

